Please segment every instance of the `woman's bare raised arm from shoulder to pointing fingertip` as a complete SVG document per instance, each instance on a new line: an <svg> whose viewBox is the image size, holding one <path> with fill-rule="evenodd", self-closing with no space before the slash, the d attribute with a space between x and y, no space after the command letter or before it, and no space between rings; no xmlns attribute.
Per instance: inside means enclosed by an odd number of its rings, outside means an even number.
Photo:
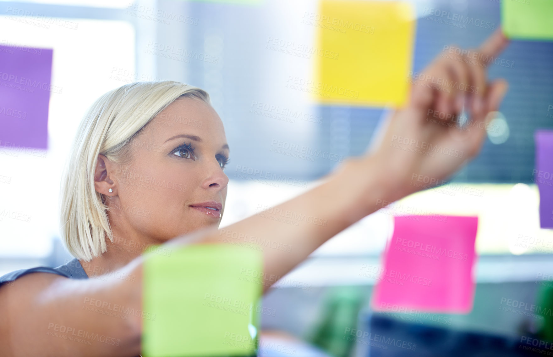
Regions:
<svg viewBox="0 0 553 357"><path fill-rule="evenodd" d="M496 56L507 45L498 30L477 49ZM418 190L415 179L440 183L474 157L490 117L507 90L503 80L488 84L486 63L460 55L437 58L417 74L407 107L390 115L370 153L348 158L323 182L261 214L220 230L201 230L168 242L243 240L264 248L264 290L321 244L364 216ZM463 104L471 121L457 127ZM434 115L437 113L437 115ZM293 223L293 224L290 224ZM135 258L121 273L70 280L32 273L0 287L0 348L6 356L134 356L140 352L141 314L120 318L89 307L142 309L142 263ZM186 307L183 307L186 308Z"/></svg>

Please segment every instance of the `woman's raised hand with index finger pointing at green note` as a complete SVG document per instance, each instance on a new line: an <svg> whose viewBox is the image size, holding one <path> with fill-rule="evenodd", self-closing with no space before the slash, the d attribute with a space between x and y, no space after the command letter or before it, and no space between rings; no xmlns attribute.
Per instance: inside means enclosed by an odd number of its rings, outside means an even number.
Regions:
<svg viewBox="0 0 553 357"><path fill-rule="evenodd" d="M497 29L477 50L450 46L415 74L408 106L392 113L371 160L387 185L387 201L443 183L480 151L486 128L507 91L487 82L486 66L507 46ZM464 127L463 106L470 114Z"/></svg>

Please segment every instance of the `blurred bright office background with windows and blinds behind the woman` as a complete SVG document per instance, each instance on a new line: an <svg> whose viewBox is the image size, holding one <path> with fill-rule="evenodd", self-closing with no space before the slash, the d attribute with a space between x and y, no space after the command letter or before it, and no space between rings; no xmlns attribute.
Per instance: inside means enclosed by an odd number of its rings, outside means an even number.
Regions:
<svg viewBox="0 0 553 357"><path fill-rule="evenodd" d="M500 24L495 0L409 3L416 17L414 72L443 53L445 45L476 47ZM431 9L488 26L442 23ZM0 212L31 217L28 222L0 218L0 275L71 259L59 240L60 180L68 152L92 102L130 82L170 79L210 94L232 148L221 227L305 192L339 164L335 158L361 155L390 108L320 104L289 86L296 77L313 77L316 56L270 46L275 39L314 43L320 30L317 13L315 0L0 1L0 45L53 49L51 84L56 88L50 94L48 149L28 153L0 146ZM56 25L56 19L70 25ZM309 353L335 356L370 353L366 344L343 339L344 326L368 330L371 324L378 329L412 323L427 328L421 339L444 340L431 330L444 324L430 317L412 322L387 314L378 325L369 306L377 279L359 275L363 264L382 264L393 216L412 209L479 217L474 307L468 314L440 315L449 319L448 328L519 340L544 329L544 318L500 307L505 297L532 303L541 288L553 286L553 234L540 229L533 174L534 132L553 128L553 43L513 40L499 59L489 65L489 77L507 79L509 91L494 120L497 130L488 132L481 154L451 183L367 216L313 253L265 297L264 306L272 310L262 315L264 330L309 343L315 348ZM302 115L275 113L271 107ZM332 159L275 151L275 141L328 152ZM267 173L291 180L267 180ZM521 237L534 239L521 245ZM375 350L375 356L395 353ZM414 355L405 349L398 353Z"/></svg>

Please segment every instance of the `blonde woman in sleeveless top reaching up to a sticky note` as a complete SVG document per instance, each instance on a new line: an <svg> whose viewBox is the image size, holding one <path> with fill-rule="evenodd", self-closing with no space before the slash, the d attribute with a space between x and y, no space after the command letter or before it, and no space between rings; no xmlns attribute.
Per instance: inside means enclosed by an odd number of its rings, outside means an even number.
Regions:
<svg viewBox="0 0 553 357"><path fill-rule="evenodd" d="M478 51L488 58L505 45L498 30ZM462 56L437 58L414 82L409 105L390 115L371 152L346 159L319 186L278 206L326 225L282 224L266 219L272 215L267 212L226 230L293 246L263 250L265 275L284 276L332 236L382 208L377 202L415 192L413 174L449 177L476 156L486 137L482 124L507 90L504 80L487 82L485 66ZM451 125L463 105L471 113L468 130ZM445 119L431 122L434 112ZM429 145L440 149L426 155ZM81 122L62 188L62 237L76 258L55 269L37 267L0 278L0 355L138 355L142 318L91 314L84 301L140 310L142 247L169 240L220 242L228 157L223 124L201 89L142 82L98 99ZM117 343L53 338L47 332L56 325L106 340L116 337Z"/></svg>

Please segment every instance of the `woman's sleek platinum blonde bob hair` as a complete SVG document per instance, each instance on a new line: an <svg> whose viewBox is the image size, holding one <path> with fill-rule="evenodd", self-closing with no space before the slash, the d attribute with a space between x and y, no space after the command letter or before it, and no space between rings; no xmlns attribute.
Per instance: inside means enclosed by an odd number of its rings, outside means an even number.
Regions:
<svg viewBox="0 0 553 357"><path fill-rule="evenodd" d="M99 154L125 163L129 142L145 125L180 97L210 104L207 92L175 82L135 82L101 96L79 125L61 187L61 235L67 250L90 261L113 242L103 195L96 192L94 173Z"/></svg>

